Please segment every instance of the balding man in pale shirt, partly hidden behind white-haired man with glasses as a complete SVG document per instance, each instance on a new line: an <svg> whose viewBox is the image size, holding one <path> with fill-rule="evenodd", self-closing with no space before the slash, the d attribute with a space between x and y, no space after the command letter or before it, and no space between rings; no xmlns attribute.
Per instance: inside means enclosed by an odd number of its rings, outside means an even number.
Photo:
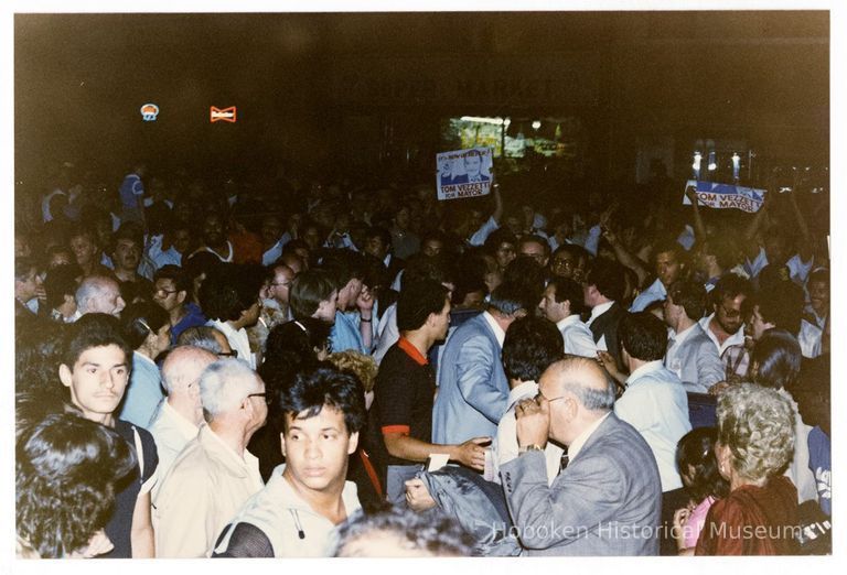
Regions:
<svg viewBox="0 0 847 575"><path fill-rule="evenodd" d="M159 404L150 425L159 449L160 477L164 477L176 455L197 436L203 425L200 376L216 360L217 356L205 349L180 346L171 350L162 364L162 387L168 398ZM153 495L159 492L159 485L153 488Z"/></svg>

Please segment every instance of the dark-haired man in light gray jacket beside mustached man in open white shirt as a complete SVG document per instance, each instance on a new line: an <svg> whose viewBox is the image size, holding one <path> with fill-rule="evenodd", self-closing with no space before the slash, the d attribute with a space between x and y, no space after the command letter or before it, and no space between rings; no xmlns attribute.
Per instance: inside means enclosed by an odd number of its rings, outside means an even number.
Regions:
<svg viewBox="0 0 847 575"><path fill-rule="evenodd" d="M723 362L699 321L706 310L701 283L678 280L667 289L665 323L673 332L665 367L679 376L686 391L707 393L726 379Z"/></svg>

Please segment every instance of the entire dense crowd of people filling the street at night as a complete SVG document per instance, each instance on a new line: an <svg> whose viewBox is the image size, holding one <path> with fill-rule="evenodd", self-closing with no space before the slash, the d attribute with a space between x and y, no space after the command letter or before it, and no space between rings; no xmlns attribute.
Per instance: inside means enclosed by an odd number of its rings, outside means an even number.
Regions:
<svg viewBox="0 0 847 575"><path fill-rule="evenodd" d="M828 552L819 196L88 182L17 198L20 557Z"/></svg>

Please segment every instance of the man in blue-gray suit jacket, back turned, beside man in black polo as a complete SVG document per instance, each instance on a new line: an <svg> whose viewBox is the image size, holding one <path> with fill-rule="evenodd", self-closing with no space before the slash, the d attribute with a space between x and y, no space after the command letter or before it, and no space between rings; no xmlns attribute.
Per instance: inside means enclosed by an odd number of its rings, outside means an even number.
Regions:
<svg viewBox="0 0 847 575"><path fill-rule="evenodd" d="M535 305L534 296L504 283L491 294L487 311L459 326L439 360L438 397L432 409L432 443L459 445L493 437L506 410L508 380L501 350L506 329Z"/></svg>

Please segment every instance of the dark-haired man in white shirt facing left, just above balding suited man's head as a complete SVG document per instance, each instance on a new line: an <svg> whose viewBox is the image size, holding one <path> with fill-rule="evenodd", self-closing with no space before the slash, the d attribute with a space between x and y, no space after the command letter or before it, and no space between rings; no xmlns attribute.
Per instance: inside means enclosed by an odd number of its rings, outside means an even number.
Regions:
<svg viewBox="0 0 847 575"><path fill-rule="evenodd" d="M544 317L559 328L566 354L597 357L597 344L591 329L579 318L585 310L580 284L566 278L553 278L544 290L538 308Z"/></svg>

